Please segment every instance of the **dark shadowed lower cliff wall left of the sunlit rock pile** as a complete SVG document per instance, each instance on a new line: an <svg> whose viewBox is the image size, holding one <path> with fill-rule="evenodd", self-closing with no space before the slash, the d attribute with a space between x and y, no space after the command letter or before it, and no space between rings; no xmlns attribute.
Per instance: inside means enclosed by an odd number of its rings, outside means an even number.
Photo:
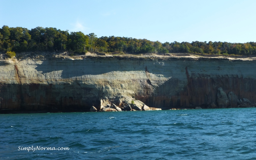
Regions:
<svg viewBox="0 0 256 160"><path fill-rule="evenodd" d="M2 110L89 111L92 105L100 105L101 90L90 84L6 84L0 89L0 113Z"/></svg>

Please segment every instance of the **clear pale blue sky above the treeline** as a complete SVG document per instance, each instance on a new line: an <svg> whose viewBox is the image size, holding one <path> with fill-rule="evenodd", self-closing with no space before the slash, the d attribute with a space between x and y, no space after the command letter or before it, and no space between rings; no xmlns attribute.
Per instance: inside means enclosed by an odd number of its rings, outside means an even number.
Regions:
<svg viewBox="0 0 256 160"><path fill-rule="evenodd" d="M0 27L151 41L256 41L255 0L0 0Z"/></svg>

